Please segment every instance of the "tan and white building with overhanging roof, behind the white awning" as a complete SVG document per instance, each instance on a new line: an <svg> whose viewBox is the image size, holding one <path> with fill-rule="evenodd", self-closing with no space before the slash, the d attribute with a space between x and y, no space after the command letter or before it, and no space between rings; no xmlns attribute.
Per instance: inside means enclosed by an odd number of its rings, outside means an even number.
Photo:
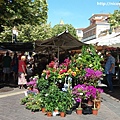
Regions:
<svg viewBox="0 0 120 120"><path fill-rule="evenodd" d="M86 42L92 39L96 39L100 36L102 31L110 30L110 24L108 23L109 14L94 14L89 18L90 25L83 29L82 42Z"/></svg>

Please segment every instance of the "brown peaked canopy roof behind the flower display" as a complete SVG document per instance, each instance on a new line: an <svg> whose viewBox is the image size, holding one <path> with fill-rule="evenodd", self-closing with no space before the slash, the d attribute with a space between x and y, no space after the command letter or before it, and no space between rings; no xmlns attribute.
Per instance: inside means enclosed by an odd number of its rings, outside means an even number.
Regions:
<svg viewBox="0 0 120 120"><path fill-rule="evenodd" d="M73 37L69 32L65 31L50 39L35 42L36 52L48 52L48 51L66 51L80 49L83 45L87 45L80 42L78 39Z"/></svg>

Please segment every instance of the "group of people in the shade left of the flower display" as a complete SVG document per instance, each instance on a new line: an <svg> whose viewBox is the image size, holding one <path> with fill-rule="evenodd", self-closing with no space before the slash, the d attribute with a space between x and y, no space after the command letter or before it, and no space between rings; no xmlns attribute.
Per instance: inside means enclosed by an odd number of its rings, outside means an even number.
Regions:
<svg viewBox="0 0 120 120"><path fill-rule="evenodd" d="M23 88L34 74L34 57L25 55L24 52L14 52L11 55L7 51L0 58L0 82L15 83Z"/></svg>

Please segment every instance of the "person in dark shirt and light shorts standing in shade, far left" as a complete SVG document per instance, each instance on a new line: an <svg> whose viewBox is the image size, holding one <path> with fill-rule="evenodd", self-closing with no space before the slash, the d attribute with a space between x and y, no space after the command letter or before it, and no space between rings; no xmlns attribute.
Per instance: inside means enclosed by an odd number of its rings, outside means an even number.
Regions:
<svg viewBox="0 0 120 120"><path fill-rule="evenodd" d="M5 81L7 77L7 81L10 79L10 73L11 73L11 62L12 59L9 56L9 52L6 52L6 56L3 57L2 63L3 63L3 81Z"/></svg>

